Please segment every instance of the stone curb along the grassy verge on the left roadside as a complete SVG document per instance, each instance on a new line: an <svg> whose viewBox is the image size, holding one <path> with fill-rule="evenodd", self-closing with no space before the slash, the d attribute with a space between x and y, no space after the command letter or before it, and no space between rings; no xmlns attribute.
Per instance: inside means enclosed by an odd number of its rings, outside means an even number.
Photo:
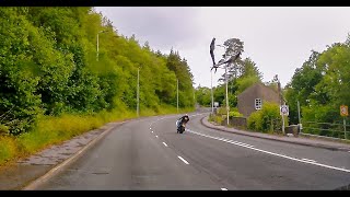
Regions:
<svg viewBox="0 0 350 197"><path fill-rule="evenodd" d="M116 128L117 126L120 126L122 124L127 123L126 121L121 121L118 123L117 125L113 126L112 128L103 131L101 135L98 135L95 139L91 140L88 144L85 144L83 148L81 148L78 152L75 152L73 155L69 157L67 160L65 160L63 162L57 164L55 167L52 167L51 170L49 170L47 173L45 173L44 175L42 175L40 177L34 179L33 182L31 182L30 184L25 185L22 187L21 190L34 190L35 188L37 188L39 185L42 185L43 183L45 183L47 179L51 178L52 176L55 176L56 174L58 174L59 172L61 172L68 164L72 163L73 161L75 161L79 157L82 155L82 153L84 153L86 150L89 150L90 148L92 148L96 142L98 142L101 139L103 139L105 136L107 136L107 134L109 134L114 128Z"/></svg>

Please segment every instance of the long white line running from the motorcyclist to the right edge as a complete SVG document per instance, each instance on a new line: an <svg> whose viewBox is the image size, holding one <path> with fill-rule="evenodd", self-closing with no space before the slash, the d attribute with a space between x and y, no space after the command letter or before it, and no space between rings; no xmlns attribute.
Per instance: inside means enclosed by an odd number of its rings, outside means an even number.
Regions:
<svg viewBox="0 0 350 197"><path fill-rule="evenodd" d="M203 134L200 134L200 132L196 132L196 131L192 131L190 129L188 129L188 131L192 132L192 134L196 134L196 135L199 135L199 136L207 137L207 138L212 138L212 139L220 140L217 137L212 137L212 136L203 135ZM322 163L316 163L316 161L314 161L314 160L298 159L298 158L292 158L292 157L288 157L288 155L283 155L283 154L279 154L279 153L275 153L275 152L257 149L257 148L254 148L254 146L242 143L242 142L238 142L238 141L230 141L230 140L229 141L228 140L220 140L220 141L225 141L225 142L233 143L233 144L236 144L236 146L240 146L240 147L245 147L247 149L252 149L252 150L255 150L255 151L264 152L264 153L267 153L267 154L271 154L271 155L276 155L276 157L280 157L280 158L284 158L284 159L289 159L289 160L293 160L293 161L298 161L298 162L302 162L302 163L308 163L308 164L312 164L312 165L318 165L318 166L323 166L323 167L327 167L327 169L332 169L332 170L350 173L350 170L347 170L347 169L336 167L336 166L326 165L326 164L322 164Z"/></svg>

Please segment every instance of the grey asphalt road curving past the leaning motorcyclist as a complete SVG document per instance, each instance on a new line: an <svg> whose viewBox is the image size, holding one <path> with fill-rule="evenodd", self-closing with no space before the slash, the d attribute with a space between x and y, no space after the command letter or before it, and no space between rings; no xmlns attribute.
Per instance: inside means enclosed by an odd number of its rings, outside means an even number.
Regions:
<svg viewBox="0 0 350 197"><path fill-rule="evenodd" d="M350 152L203 127L190 114L131 120L36 189L336 189L350 184Z"/></svg>

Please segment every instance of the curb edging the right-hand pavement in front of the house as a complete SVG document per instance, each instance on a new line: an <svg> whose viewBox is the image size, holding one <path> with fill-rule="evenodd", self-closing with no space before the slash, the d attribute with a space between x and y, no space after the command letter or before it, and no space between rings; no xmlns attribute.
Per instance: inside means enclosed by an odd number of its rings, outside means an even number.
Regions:
<svg viewBox="0 0 350 197"><path fill-rule="evenodd" d="M207 118L208 116L205 116L200 119L200 123L207 127L207 128L211 128L211 129L215 129L215 130L221 130L224 132L230 132L230 134L236 134L236 135L242 135L242 136L249 136L249 137L254 137L254 138L260 138L260 139L268 139L268 140L275 140L275 141L281 141L281 142L288 142L288 143L294 143L294 144L302 144L302 146L307 146L307 147L316 147L316 148L323 148L323 149L328 149L328 150L339 150L339 151L349 151L350 149L347 148L336 148L336 147L330 147L330 146L325 146L325 144L313 144L313 143L306 143L306 142L299 142L299 141L289 141L289 140L283 140L283 139L273 139L273 138L269 138L269 137L262 137L262 136L255 136L252 134L243 134L243 132L234 132L234 131L229 131L225 130L224 128L218 128L215 126L211 126L211 125L207 125L203 123L203 119Z"/></svg>

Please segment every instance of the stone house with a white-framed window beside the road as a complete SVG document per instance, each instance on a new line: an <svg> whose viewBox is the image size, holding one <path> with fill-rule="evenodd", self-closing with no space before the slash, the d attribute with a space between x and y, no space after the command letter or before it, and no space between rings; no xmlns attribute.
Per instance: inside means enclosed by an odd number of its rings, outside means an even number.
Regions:
<svg viewBox="0 0 350 197"><path fill-rule="evenodd" d="M264 102L280 103L280 97L276 90L257 82L237 96L238 112L249 117L252 113L261 109Z"/></svg>

